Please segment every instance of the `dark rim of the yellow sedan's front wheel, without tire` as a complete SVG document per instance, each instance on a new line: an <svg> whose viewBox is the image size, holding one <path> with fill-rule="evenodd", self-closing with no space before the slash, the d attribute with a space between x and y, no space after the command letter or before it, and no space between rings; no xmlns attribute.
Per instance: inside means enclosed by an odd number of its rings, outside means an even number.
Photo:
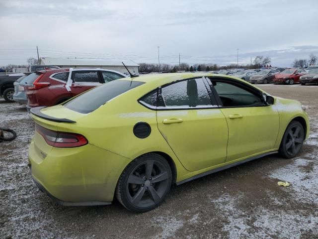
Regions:
<svg viewBox="0 0 318 239"><path fill-rule="evenodd" d="M303 145L304 131L299 125L292 127L287 134L286 138L286 151L289 155L296 155Z"/></svg>

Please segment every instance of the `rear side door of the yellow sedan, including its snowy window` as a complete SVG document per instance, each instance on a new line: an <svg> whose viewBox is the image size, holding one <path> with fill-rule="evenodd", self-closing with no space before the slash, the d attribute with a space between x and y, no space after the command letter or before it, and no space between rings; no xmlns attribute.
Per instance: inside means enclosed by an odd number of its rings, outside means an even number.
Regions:
<svg viewBox="0 0 318 239"><path fill-rule="evenodd" d="M225 162L228 125L205 78L179 81L161 89L158 128L182 165L197 171Z"/></svg>

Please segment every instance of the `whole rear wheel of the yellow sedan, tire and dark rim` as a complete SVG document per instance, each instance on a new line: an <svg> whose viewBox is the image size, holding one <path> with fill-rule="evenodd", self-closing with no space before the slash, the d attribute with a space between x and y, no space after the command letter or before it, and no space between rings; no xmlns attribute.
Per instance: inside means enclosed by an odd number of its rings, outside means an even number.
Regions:
<svg viewBox="0 0 318 239"><path fill-rule="evenodd" d="M147 212L163 202L171 181L168 162L157 153L148 153L133 160L122 172L116 186L116 198L132 212Z"/></svg>

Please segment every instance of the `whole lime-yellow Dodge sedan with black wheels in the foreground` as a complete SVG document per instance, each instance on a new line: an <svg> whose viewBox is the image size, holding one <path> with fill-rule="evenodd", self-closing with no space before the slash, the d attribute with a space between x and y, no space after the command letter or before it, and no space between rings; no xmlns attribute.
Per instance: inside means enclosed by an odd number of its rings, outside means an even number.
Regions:
<svg viewBox="0 0 318 239"><path fill-rule="evenodd" d="M105 205L114 196L146 212L171 184L265 155L292 158L308 137L305 108L213 74L118 79L66 103L33 108L32 178L62 205Z"/></svg>

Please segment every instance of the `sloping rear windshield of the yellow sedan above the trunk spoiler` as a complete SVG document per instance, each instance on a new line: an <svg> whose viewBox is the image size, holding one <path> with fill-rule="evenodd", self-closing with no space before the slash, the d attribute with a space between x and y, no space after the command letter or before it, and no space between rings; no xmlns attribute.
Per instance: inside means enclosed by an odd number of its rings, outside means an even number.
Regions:
<svg viewBox="0 0 318 239"><path fill-rule="evenodd" d="M64 104L64 107L79 113L87 114L104 105L116 96L144 84L139 81L111 81L79 95Z"/></svg>

